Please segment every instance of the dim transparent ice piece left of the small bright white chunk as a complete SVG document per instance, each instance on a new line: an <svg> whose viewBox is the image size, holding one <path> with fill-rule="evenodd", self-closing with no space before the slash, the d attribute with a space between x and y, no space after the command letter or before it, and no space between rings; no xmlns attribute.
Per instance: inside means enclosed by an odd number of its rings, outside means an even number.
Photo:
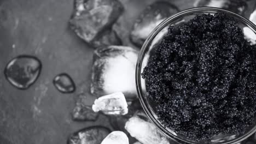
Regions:
<svg viewBox="0 0 256 144"><path fill-rule="evenodd" d="M81 93L78 95L72 116L76 121L95 121L98 117L98 113L91 109L91 106L85 105L87 101L86 95Z"/></svg>

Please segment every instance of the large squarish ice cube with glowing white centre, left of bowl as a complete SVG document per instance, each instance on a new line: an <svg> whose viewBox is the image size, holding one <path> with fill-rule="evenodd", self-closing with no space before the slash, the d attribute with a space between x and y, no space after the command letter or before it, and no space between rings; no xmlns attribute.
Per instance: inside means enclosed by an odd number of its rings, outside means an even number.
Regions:
<svg viewBox="0 0 256 144"><path fill-rule="evenodd" d="M138 51L127 46L108 46L94 53L91 93L97 97L123 92L127 100L137 98L135 69Z"/></svg>

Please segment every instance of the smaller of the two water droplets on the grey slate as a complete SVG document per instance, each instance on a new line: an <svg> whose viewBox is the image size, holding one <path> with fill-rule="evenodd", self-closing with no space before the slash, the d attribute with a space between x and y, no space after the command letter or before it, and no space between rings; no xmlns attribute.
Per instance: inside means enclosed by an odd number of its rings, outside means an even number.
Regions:
<svg viewBox="0 0 256 144"><path fill-rule="evenodd" d="M74 81L66 73L62 73L62 74L55 76L53 83L54 83L54 86L61 93L72 93L75 91Z"/></svg>

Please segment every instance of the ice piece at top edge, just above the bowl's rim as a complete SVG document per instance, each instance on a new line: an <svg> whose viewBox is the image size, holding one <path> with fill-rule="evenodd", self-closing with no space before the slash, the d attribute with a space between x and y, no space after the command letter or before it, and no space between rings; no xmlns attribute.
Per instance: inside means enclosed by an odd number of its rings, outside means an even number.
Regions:
<svg viewBox="0 0 256 144"><path fill-rule="evenodd" d="M196 0L194 7L216 7L244 15L248 5L245 0Z"/></svg>

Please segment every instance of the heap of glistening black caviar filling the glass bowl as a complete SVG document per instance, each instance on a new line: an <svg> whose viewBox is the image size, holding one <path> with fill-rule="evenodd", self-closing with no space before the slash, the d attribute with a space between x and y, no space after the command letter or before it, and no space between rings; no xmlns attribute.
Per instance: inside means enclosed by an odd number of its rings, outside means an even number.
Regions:
<svg viewBox="0 0 256 144"><path fill-rule="evenodd" d="M254 51L223 13L170 26L142 73L159 121L195 141L245 133L256 113Z"/></svg>

